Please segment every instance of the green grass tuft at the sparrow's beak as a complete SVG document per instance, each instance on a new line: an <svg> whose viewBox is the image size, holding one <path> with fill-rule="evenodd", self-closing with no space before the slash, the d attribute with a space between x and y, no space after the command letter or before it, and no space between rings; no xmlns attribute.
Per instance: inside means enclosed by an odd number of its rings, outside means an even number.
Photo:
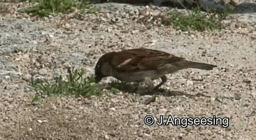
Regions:
<svg viewBox="0 0 256 140"><path fill-rule="evenodd" d="M107 89L112 94L118 91L116 88L96 84L94 77L83 78L84 74L84 69L69 69L67 80L64 80L63 76L59 76L54 78L52 82L40 79L35 80L32 76L30 85L37 92L32 102L40 102L49 96L70 97L75 95L76 97L84 96L89 98L92 95L101 96L104 93L104 89Z"/></svg>

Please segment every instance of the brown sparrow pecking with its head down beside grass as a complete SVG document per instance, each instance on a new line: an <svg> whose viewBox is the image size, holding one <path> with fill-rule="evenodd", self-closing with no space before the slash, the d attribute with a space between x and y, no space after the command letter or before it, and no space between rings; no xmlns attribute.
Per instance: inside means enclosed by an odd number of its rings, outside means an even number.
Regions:
<svg viewBox="0 0 256 140"><path fill-rule="evenodd" d="M166 74L186 68L212 70L216 65L192 62L167 52L147 48L135 48L102 55L94 68L96 82L112 76L122 82L144 82L148 90L157 90L167 82ZM153 80L162 82L154 86Z"/></svg>

